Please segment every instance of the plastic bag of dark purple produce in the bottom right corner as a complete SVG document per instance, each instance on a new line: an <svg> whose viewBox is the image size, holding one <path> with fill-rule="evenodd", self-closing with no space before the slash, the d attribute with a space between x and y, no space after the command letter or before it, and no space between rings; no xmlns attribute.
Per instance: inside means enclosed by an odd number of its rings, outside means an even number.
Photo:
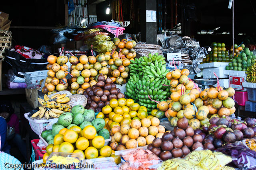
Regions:
<svg viewBox="0 0 256 170"><path fill-rule="evenodd" d="M232 163L240 169L256 168L256 152L247 148L242 142L229 143L216 151L232 157Z"/></svg>

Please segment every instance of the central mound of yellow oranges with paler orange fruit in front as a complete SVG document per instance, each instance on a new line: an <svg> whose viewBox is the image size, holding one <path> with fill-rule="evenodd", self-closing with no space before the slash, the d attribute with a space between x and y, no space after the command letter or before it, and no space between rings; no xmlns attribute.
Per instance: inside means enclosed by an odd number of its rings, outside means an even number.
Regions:
<svg viewBox="0 0 256 170"><path fill-rule="evenodd" d="M97 117L106 122L105 129L110 131L112 150L122 150L145 146L155 137L162 137L165 129L159 125L157 117L148 115L147 108L134 103L132 99L110 100Z"/></svg>

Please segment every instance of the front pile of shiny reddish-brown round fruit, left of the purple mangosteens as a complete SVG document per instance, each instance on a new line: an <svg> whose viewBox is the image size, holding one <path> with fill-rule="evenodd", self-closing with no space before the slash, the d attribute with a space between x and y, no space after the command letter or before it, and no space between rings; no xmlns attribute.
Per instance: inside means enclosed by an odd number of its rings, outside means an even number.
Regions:
<svg viewBox="0 0 256 170"><path fill-rule="evenodd" d="M162 160L183 157L198 147L204 147L203 137L199 133L188 126L188 120L183 117L177 121L177 126L172 131L164 133L162 139L155 138L148 149Z"/></svg>

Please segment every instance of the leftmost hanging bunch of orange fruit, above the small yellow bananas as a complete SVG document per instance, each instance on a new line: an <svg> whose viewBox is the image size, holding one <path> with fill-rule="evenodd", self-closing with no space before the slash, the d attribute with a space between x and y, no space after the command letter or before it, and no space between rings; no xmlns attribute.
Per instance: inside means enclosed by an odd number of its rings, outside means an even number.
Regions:
<svg viewBox="0 0 256 170"><path fill-rule="evenodd" d="M66 79L68 75L68 66L66 65L68 57L63 55L59 57L50 55L47 61L49 63L46 66L48 76L44 88L42 88L42 92L50 95L58 91L66 90L68 88L68 80Z"/></svg>

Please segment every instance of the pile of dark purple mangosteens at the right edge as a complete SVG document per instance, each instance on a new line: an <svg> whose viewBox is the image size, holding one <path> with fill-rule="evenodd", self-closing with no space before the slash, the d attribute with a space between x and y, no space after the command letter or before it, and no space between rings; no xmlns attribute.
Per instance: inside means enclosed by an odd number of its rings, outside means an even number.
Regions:
<svg viewBox="0 0 256 170"><path fill-rule="evenodd" d="M256 121L250 117L243 122L229 116L212 117L209 122L195 130L203 137L204 149L214 150L225 143L255 138L256 135Z"/></svg>

